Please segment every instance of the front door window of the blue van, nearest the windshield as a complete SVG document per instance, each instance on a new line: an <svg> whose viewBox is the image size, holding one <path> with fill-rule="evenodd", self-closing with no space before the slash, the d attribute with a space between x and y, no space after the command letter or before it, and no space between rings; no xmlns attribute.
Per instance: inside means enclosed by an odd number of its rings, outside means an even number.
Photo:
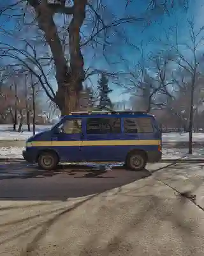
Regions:
<svg viewBox="0 0 204 256"><path fill-rule="evenodd" d="M62 132L66 134L77 134L82 133L82 120L80 119L70 119L65 120L65 122L60 127Z"/></svg>

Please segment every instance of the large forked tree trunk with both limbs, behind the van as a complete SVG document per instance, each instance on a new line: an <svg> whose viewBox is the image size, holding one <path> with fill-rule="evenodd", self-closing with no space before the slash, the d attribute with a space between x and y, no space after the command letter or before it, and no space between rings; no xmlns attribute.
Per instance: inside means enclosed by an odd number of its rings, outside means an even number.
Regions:
<svg viewBox="0 0 204 256"><path fill-rule="evenodd" d="M80 28L85 19L87 0L73 0L73 8L62 7L67 14L73 15L69 24L69 61L64 56L63 47L57 34L53 15L57 12L56 5L41 0L36 4L29 0L36 10L39 28L44 31L45 38L50 45L56 69L58 90L54 99L62 115L78 108L78 99L85 79L84 60L80 51ZM69 66L68 66L69 62Z"/></svg>

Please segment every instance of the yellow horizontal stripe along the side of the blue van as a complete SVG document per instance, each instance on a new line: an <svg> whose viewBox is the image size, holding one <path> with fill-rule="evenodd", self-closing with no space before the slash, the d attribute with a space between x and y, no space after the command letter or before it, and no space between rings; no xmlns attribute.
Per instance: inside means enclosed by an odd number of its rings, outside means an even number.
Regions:
<svg viewBox="0 0 204 256"><path fill-rule="evenodd" d="M85 140L85 141L32 141L27 147L71 147L71 146L131 146L161 145L160 140Z"/></svg>

